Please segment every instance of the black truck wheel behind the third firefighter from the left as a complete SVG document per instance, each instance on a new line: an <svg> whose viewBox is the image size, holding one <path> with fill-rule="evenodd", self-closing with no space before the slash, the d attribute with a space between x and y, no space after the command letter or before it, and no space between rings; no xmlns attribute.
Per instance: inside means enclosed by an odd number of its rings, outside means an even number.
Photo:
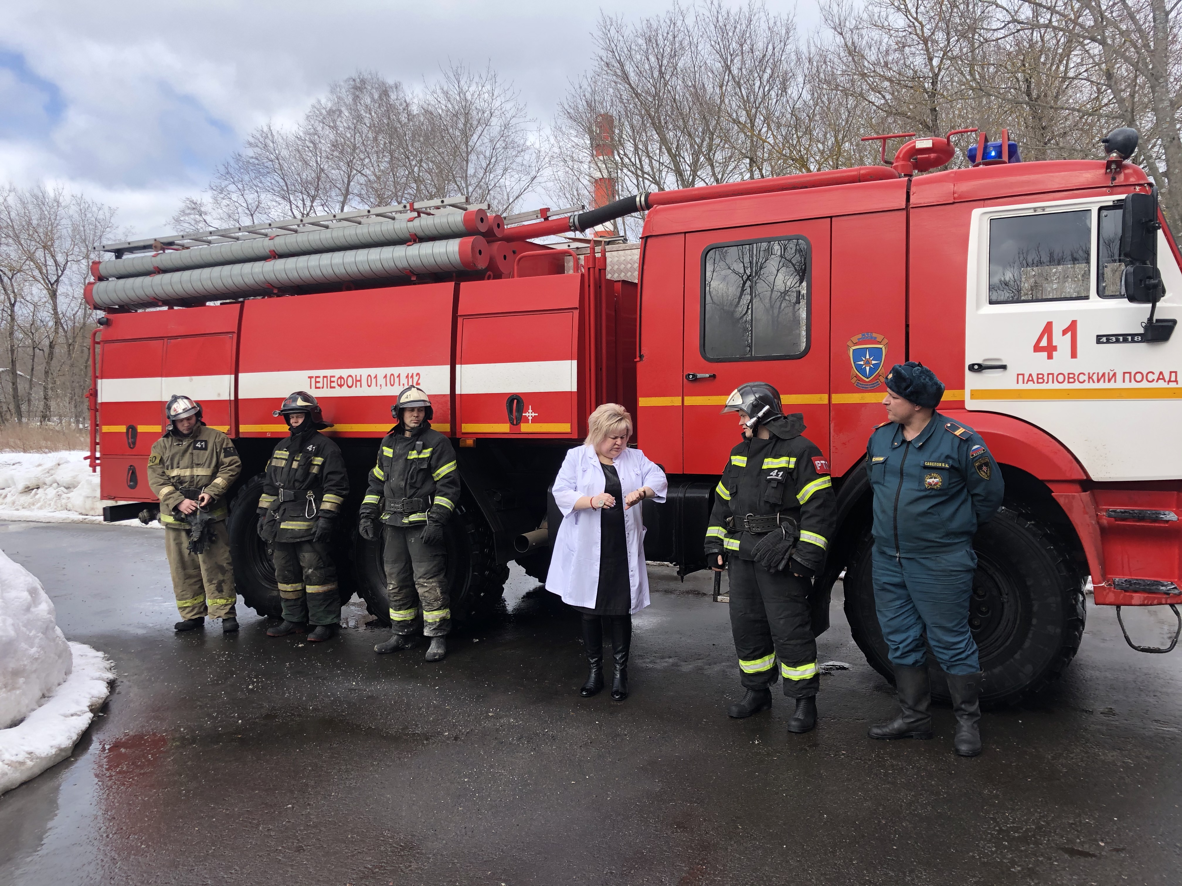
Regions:
<svg viewBox="0 0 1182 886"><path fill-rule="evenodd" d="M507 566L496 562L493 530L475 503L465 496L447 525L447 582L452 619L479 618L505 594ZM390 624L390 600L385 595L382 538L365 541L357 535L353 547L357 593L379 624Z"/></svg>

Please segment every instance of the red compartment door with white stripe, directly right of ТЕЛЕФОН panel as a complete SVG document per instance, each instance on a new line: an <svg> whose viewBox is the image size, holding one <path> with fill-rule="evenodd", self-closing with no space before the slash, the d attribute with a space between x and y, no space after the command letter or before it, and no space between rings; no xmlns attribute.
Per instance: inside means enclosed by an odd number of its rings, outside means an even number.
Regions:
<svg viewBox="0 0 1182 886"><path fill-rule="evenodd" d="M465 437L582 436L582 274L460 287L456 398ZM520 397L520 423L509 403Z"/></svg>

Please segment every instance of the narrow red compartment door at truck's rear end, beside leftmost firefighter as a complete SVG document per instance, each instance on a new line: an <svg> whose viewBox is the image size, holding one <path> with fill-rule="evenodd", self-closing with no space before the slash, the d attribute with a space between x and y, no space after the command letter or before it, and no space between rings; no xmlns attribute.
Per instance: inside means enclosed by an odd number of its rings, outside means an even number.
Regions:
<svg viewBox="0 0 1182 886"><path fill-rule="evenodd" d="M163 421L161 366L164 341L104 341L99 348L99 494L119 501L155 501L148 488L148 450Z"/></svg>

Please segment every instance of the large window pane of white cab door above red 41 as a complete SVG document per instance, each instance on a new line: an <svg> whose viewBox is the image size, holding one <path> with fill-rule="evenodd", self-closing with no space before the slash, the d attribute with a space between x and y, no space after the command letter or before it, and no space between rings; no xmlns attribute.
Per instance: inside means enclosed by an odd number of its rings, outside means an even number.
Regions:
<svg viewBox="0 0 1182 886"><path fill-rule="evenodd" d="M1035 213L989 221L989 304L1086 299L1092 213Z"/></svg>

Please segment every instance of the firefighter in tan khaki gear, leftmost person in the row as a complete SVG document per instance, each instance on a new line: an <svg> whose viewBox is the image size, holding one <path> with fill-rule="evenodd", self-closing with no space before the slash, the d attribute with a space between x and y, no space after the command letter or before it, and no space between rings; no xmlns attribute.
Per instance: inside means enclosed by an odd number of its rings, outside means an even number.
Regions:
<svg viewBox="0 0 1182 886"><path fill-rule="evenodd" d="M238 594L225 499L242 462L233 441L201 421L200 403L173 395L164 415L164 435L148 456L148 486L160 499L164 553L181 613L174 627L193 631L209 615L232 633L238 630Z"/></svg>

